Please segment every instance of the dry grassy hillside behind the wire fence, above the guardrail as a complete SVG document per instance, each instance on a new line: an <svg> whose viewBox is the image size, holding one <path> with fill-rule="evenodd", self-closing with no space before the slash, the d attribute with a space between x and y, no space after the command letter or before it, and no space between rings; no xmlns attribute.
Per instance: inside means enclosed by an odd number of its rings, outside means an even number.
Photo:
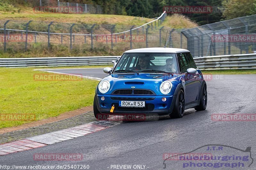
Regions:
<svg viewBox="0 0 256 170"><path fill-rule="evenodd" d="M12 6L7 2L0 2L0 27L3 27L4 22L8 19L11 21L8 23L7 28L12 29L24 30L26 23L29 20L33 20L29 25L28 30L47 32L48 24L51 21L54 21L55 23L51 26L51 32L53 33L69 33L71 24L75 23L76 25L73 27L73 33L87 34L90 34L90 25L92 24L97 24L97 26L94 27L93 33L107 34L110 33L112 24L116 25L114 30L114 33L116 33L129 30L132 25L140 26L153 20L151 18L125 15L35 13L31 7ZM167 16L162 25L158 26L158 23L156 22L156 24L154 23L153 28L148 30L148 47L159 46L159 29L162 26L166 26L165 30L168 30L169 28L192 28L197 25L182 15ZM163 33L165 30L163 30ZM132 48L146 47L145 31L146 26L140 28L138 31L133 31L133 35L139 35L140 37L143 37L143 40L132 42ZM12 33L20 35L20 32L10 31L8 33L10 33L10 35L12 35ZM120 36L124 37L127 35L129 35L129 33L118 34L119 40ZM173 43L173 47L179 47L180 34L172 36L173 41L175 42ZM70 50L69 35L63 35L63 37L60 37L60 35L51 35L51 44L48 48L47 34L32 34L31 37L32 40L28 41L27 51L24 50L24 41L7 42L5 52L3 51L3 46L0 46L0 58L121 55L125 50L130 49L130 41L114 41L113 49L111 49L110 40L108 40L108 42L98 41L97 38L99 37L93 37L94 45L93 48L91 48L90 36L76 36L72 38L74 41L72 50ZM100 38L104 39L104 37ZM164 36L162 36L161 39L163 39L162 42L164 42ZM25 40L25 38L23 38L23 40ZM185 47L186 42L183 41L183 44Z"/></svg>

